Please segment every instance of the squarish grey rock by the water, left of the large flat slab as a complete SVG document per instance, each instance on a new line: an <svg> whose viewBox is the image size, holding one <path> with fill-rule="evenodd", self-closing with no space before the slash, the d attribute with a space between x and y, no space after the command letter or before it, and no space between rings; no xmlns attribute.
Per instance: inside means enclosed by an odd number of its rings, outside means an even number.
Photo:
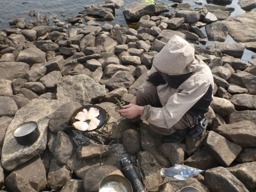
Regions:
<svg viewBox="0 0 256 192"><path fill-rule="evenodd" d="M225 23L211 23L205 27L207 36L211 40L226 40L228 25Z"/></svg>

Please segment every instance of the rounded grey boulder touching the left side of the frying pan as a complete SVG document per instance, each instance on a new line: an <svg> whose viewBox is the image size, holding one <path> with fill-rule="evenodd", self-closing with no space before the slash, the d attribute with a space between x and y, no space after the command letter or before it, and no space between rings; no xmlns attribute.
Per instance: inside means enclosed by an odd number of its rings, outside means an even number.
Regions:
<svg viewBox="0 0 256 192"><path fill-rule="evenodd" d="M70 132L70 127L66 127L64 121L70 119L74 111L80 107L82 106L77 101L68 102L58 107L49 121L50 131L55 133L58 131Z"/></svg>

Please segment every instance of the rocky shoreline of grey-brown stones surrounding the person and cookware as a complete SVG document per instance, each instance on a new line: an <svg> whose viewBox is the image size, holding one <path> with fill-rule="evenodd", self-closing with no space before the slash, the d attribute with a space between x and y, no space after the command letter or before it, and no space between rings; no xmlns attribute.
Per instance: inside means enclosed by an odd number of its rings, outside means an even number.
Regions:
<svg viewBox="0 0 256 192"><path fill-rule="evenodd" d="M95 21L114 19L115 9L124 6L121 0L86 6L66 22L55 18L60 28L34 19L11 20L11 28L0 31L2 191L97 191L105 176L122 175L119 160L126 156L138 167L147 190L166 181L161 167L184 164L205 173L151 191L178 191L188 185L201 192L255 191L256 61L255 55L248 62L239 58L245 48L256 50L256 13L254 1L239 4L251 13L230 17L234 9L211 4L186 10L190 3L182 1L168 13L165 3L159 7L141 1L124 10L127 20L138 21L136 29ZM202 48L202 26L210 40L223 41L229 34L237 43ZM186 137L182 143L161 143L147 122L109 124L91 134L96 140L64 125L81 106L108 109L116 103L114 97L128 104L154 56L173 35L190 42L214 76L214 100L202 141ZM108 122L122 118L114 110L108 114ZM24 147L12 131L27 121L37 122L40 137Z"/></svg>

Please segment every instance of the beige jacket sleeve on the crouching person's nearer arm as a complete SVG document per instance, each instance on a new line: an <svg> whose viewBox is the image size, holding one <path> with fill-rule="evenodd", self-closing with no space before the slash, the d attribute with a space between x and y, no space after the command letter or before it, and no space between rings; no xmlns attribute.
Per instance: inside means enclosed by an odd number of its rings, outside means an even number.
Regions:
<svg viewBox="0 0 256 192"><path fill-rule="evenodd" d="M190 83L184 82L180 85L179 93L169 97L162 108L145 106L141 120L146 120L152 125L170 129L182 116L206 93L211 82L198 79Z"/></svg>

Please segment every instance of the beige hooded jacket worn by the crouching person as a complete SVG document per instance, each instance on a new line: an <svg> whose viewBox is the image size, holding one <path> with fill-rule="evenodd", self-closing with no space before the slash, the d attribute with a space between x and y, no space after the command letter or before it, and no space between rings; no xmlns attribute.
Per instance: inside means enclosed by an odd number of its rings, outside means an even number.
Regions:
<svg viewBox="0 0 256 192"><path fill-rule="evenodd" d="M209 86L214 86L210 68L200 58L195 57L195 49L181 37L174 35L153 60L153 66L147 72L160 71L168 75L181 75L192 72L177 89L168 84L157 86L157 94L162 108L147 105L141 115L152 125L170 129L182 116L207 92ZM152 86L149 82L141 87Z"/></svg>

